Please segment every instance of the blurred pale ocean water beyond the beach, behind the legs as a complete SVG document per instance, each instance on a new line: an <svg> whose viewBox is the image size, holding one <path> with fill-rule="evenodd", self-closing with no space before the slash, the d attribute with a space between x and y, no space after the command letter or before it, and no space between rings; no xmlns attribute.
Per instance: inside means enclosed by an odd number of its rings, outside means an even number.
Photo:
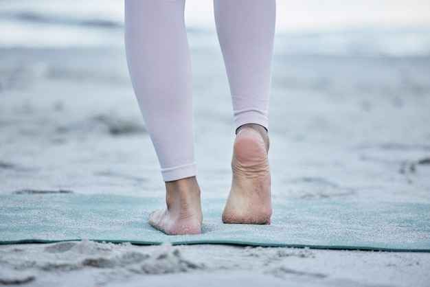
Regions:
<svg viewBox="0 0 430 287"><path fill-rule="evenodd" d="M275 53L430 55L429 0L278 0ZM0 0L0 47L122 47L122 0ZM218 49L212 0L188 0L192 48Z"/></svg>

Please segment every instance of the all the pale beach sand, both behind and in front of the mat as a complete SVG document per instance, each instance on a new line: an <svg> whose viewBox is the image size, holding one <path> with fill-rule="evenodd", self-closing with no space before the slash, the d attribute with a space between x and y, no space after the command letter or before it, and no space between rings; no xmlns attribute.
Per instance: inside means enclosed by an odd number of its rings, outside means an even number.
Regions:
<svg viewBox="0 0 430 287"><path fill-rule="evenodd" d="M217 49L196 47L192 57L199 182L203 198L227 198L227 78ZM430 203L429 74L426 56L275 54L273 200ZM1 49L0 101L1 194L163 198L121 47ZM0 284L22 286L430 286L429 269L429 253L0 246Z"/></svg>

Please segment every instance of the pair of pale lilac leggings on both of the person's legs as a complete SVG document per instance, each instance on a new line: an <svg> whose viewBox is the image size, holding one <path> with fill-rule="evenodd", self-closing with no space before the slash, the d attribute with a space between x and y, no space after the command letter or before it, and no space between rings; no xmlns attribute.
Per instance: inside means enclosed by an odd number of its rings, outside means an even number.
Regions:
<svg viewBox="0 0 430 287"><path fill-rule="evenodd" d="M128 69L163 181L196 175L185 0L125 0ZM268 127L275 0L214 0L236 128Z"/></svg>

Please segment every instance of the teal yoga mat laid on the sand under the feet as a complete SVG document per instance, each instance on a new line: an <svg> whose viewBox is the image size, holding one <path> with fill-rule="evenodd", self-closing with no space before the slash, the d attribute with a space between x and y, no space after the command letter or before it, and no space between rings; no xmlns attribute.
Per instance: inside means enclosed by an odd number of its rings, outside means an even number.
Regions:
<svg viewBox="0 0 430 287"><path fill-rule="evenodd" d="M166 236L148 225L162 198L79 194L0 195L0 243L95 240L134 244L246 244L430 251L430 205L292 200L271 225L224 225L225 200L203 200L203 233Z"/></svg>

